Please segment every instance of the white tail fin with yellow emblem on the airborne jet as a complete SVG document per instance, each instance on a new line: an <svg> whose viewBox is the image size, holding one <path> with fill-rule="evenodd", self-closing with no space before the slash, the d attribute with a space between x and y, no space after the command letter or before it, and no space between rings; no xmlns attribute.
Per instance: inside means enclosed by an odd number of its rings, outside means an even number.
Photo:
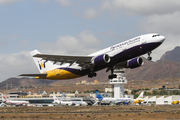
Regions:
<svg viewBox="0 0 180 120"><path fill-rule="evenodd" d="M34 55L41 54L41 53L38 50L33 50L30 52L30 54L33 57ZM33 57L33 60L36 66L38 67L38 70L40 71L40 73L44 73L48 70L53 69L55 66L57 66L57 65L54 65L51 61L42 60L42 58Z"/></svg>

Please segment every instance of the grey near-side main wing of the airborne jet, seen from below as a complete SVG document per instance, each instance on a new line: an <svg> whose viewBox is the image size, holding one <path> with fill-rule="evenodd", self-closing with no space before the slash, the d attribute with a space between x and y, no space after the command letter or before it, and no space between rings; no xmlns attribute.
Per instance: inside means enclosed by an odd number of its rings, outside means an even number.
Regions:
<svg viewBox="0 0 180 120"><path fill-rule="evenodd" d="M36 54L33 57L39 57L46 61L54 61L54 64L57 62L63 63L73 63L79 64L79 66L90 65L91 59L93 56L65 56L65 55L48 55L48 54Z"/></svg>

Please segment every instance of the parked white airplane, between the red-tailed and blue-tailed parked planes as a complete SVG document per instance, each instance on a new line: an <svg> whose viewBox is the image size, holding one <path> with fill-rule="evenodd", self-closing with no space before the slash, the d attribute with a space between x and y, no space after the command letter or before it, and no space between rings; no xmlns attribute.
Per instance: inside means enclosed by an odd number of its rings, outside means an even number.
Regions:
<svg viewBox="0 0 180 120"><path fill-rule="evenodd" d="M66 106L87 106L88 104L84 101L74 101L74 100L59 100L56 96L53 96L54 104L61 104Z"/></svg>

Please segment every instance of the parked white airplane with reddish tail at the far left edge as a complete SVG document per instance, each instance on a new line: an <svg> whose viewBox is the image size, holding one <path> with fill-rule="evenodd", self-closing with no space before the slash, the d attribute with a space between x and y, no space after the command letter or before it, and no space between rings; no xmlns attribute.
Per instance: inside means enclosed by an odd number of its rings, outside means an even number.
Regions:
<svg viewBox="0 0 180 120"><path fill-rule="evenodd" d="M23 106L23 105L27 105L30 104L28 101L10 101L8 100L4 94L1 94L2 97L2 105L16 105L16 106Z"/></svg>

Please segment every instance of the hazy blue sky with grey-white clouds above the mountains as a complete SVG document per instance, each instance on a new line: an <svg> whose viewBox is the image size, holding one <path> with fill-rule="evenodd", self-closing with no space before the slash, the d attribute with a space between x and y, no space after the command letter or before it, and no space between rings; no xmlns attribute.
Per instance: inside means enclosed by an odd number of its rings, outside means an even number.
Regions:
<svg viewBox="0 0 180 120"><path fill-rule="evenodd" d="M29 52L87 55L146 33L180 45L180 0L0 0L0 81L39 73Z"/></svg>

